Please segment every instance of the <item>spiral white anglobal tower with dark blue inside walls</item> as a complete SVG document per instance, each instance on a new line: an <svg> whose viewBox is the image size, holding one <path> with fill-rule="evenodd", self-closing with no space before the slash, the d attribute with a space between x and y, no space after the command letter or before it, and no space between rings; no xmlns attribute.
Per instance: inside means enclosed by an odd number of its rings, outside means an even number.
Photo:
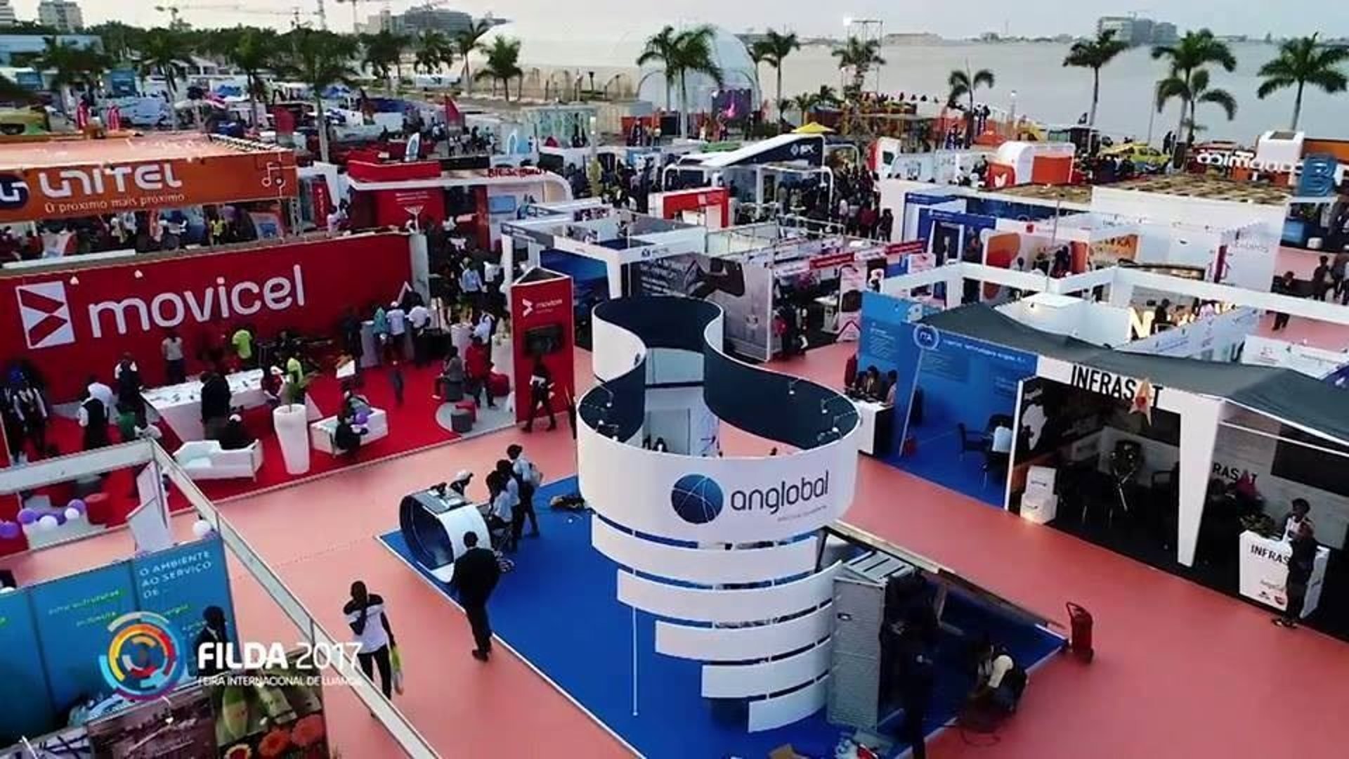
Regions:
<svg viewBox="0 0 1349 759"><path fill-rule="evenodd" d="M577 469L619 601L658 617L657 652L704 662L701 696L747 700L765 731L826 702L838 565L820 566L822 528L853 502L858 419L830 388L724 354L722 325L692 298L598 305ZM795 452L722 458L722 423Z"/></svg>

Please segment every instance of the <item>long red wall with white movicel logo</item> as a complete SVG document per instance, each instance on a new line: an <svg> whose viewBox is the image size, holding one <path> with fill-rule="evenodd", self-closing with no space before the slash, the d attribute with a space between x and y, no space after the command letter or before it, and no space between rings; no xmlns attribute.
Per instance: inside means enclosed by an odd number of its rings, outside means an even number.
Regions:
<svg viewBox="0 0 1349 759"><path fill-rule="evenodd" d="M71 259L76 261L76 259ZM32 362L54 402L78 397L86 377L112 382L131 351L147 385L165 381L159 346L182 335L188 371L198 346L251 324L335 335L348 307L395 300L411 280L407 236L353 235L0 278L0 357Z"/></svg>

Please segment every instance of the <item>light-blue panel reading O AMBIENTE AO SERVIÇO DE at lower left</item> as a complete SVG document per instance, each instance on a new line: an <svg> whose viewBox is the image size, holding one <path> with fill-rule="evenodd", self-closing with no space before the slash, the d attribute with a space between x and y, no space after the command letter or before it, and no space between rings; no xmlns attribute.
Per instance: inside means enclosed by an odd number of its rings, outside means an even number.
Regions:
<svg viewBox="0 0 1349 759"><path fill-rule="evenodd" d="M179 640L197 639L205 627L201 613L206 606L225 612L229 639L236 639L225 548L219 536L132 559L131 573L139 609L174 623ZM188 659L188 669L196 674L194 659Z"/></svg>

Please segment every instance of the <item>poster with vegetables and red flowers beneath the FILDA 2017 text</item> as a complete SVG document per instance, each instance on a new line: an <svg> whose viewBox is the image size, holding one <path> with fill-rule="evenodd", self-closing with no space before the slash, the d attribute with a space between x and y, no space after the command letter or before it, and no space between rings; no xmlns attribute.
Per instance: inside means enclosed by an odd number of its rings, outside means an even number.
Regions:
<svg viewBox="0 0 1349 759"><path fill-rule="evenodd" d="M286 667L231 673L206 686L220 759L328 759L324 690L310 664L291 654Z"/></svg>

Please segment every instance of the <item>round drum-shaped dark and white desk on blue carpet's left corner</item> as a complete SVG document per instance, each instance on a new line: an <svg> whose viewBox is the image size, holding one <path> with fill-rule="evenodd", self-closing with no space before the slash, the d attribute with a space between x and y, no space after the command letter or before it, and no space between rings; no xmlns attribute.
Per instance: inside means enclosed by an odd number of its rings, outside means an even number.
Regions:
<svg viewBox="0 0 1349 759"><path fill-rule="evenodd" d="M455 559L468 551L464 535L473 532L480 547L491 547L482 508L453 490L421 490L403 496L398 527L417 563L436 579L449 582L455 578Z"/></svg>

